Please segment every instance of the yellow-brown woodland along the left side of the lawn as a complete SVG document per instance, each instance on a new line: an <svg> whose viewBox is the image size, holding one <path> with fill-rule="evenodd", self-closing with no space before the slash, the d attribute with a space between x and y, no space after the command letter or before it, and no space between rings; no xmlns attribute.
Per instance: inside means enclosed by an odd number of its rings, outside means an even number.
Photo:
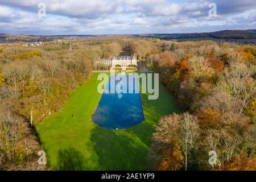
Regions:
<svg viewBox="0 0 256 182"><path fill-rule="evenodd" d="M0 169L46 169L34 126L60 110L69 92L90 76L83 49L69 43L0 52Z"/></svg>

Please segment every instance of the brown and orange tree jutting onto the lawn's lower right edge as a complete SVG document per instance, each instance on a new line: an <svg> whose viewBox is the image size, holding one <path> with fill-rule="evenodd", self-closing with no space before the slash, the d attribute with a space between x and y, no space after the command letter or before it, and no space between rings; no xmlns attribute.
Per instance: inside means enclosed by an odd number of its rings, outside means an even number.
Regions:
<svg viewBox="0 0 256 182"><path fill-rule="evenodd" d="M160 119L153 134L150 159L158 170L178 170L183 166L183 155L178 142L180 115L168 115Z"/></svg>

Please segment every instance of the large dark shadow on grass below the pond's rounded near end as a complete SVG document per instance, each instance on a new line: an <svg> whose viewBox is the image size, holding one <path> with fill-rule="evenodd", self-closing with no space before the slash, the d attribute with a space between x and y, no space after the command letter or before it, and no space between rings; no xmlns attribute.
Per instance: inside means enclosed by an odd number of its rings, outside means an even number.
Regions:
<svg viewBox="0 0 256 182"><path fill-rule="evenodd" d="M133 131L115 131L98 126L94 129L91 140L95 143L94 151L102 169L147 169L148 146Z"/></svg>

